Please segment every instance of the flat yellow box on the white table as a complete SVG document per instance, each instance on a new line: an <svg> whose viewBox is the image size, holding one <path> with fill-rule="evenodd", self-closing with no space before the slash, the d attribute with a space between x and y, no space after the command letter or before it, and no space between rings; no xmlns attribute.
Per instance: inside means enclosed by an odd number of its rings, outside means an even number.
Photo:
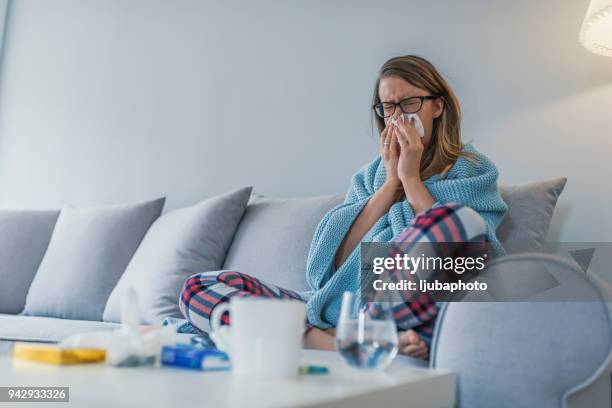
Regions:
<svg viewBox="0 0 612 408"><path fill-rule="evenodd" d="M61 348L55 344L15 343L13 358L48 364L83 364L104 361L106 350Z"/></svg>

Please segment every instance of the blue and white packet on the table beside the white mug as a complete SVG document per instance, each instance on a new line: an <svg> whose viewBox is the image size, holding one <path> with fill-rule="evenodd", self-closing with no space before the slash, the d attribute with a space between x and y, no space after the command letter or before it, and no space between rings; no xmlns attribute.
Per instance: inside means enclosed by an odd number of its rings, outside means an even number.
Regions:
<svg viewBox="0 0 612 408"><path fill-rule="evenodd" d="M229 357L226 353L186 344L164 346L161 353L161 364L202 371L219 371L230 368Z"/></svg>

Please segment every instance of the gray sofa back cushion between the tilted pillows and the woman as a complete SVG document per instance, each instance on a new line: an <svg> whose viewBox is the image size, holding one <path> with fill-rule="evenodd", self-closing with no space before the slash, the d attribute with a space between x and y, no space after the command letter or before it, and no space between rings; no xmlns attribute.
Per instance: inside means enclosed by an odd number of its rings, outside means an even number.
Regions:
<svg viewBox="0 0 612 408"><path fill-rule="evenodd" d="M306 259L315 228L344 195L297 199L255 197L223 265L287 289L306 290Z"/></svg>

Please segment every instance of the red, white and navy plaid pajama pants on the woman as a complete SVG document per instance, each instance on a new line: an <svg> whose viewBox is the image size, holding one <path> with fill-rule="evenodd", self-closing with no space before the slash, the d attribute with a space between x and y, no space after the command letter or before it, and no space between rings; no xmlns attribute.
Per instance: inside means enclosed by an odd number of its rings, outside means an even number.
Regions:
<svg viewBox="0 0 612 408"><path fill-rule="evenodd" d="M438 205L417 214L411 224L394 240L391 251L410 250L421 242L484 242L487 227L484 220L469 207L450 203ZM183 316L196 331L211 330L213 309L233 297L272 297L277 299L306 299L297 292L280 288L238 271L212 271L191 276L185 282L179 298ZM399 330L414 329L427 342L431 340L438 306L427 297L398 302L393 307ZM221 317L229 323L229 315ZM309 327L308 323L306 327Z"/></svg>

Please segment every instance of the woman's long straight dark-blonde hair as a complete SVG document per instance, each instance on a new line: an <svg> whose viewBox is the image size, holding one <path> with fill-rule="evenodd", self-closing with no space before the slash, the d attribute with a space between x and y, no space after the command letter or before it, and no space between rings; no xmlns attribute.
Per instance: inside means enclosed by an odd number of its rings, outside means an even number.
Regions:
<svg viewBox="0 0 612 408"><path fill-rule="evenodd" d="M416 86L439 96L444 109L442 114L433 120L431 141L423 152L421 160L421 179L433 175L444 175L455 164L458 158L471 159L472 155L463 151L461 142L461 107L455 93L436 68L425 58L416 55L394 57L383 64L374 86L372 104L380 102L378 87L386 77L399 77ZM374 114L379 133L385 128L383 118Z"/></svg>

